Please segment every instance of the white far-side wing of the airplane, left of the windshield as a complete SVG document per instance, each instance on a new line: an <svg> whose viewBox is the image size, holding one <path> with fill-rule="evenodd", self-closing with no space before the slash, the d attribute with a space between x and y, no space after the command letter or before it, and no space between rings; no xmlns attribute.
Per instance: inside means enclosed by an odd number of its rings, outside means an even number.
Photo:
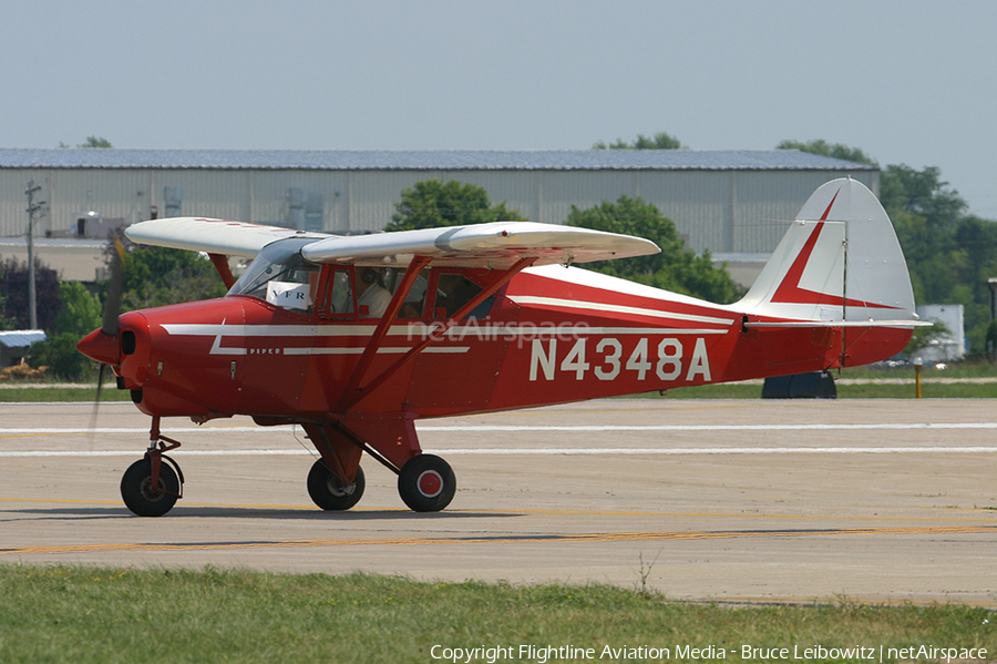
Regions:
<svg viewBox="0 0 997 664"><path fill-rule="evenodd" d="M329 237L323 233L204 217L171 217L132 224L125 228L125 236L137 244L248 258L285 237Z"/></svg>

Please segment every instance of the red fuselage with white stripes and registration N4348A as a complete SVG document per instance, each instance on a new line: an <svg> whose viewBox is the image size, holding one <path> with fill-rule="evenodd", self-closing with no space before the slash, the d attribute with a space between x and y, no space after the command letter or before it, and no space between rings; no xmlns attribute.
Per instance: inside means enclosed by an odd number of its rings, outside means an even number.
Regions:
<svg viewBox="0 0 997 664"><path fill-rule="evenodd" d="M312 276L309 297L317 295L307 308L229 294L124 314L115 371L152 416L321 421L349 409L425 418L828 369L842 358L865 364L894 355L911 335L757 329L746 323L759 317L737 305L548 266L516 275L413 355L453 314L448 298L459 288L451 280L480 289L494 278L484 269L433 267L413 302L418 309L391 320L352 386L378 318L357 305L354 293L348 305L333 306L332 282L358 284L359 269L323 266ZM359 400L343 398L348 386L362 390L377 379Z"/></svg>

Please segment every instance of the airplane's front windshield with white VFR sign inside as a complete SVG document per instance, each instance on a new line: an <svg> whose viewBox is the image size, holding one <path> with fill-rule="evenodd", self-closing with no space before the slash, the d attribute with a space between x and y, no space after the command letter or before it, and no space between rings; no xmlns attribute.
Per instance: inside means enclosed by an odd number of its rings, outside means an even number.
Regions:
<svg viewBox="0 0 997 664"><path fill-rule="evenodd" d="M228 295L248 295L298 311L311 313L320 265L301 257L315 238L288 238L265 246Z"/></svg>

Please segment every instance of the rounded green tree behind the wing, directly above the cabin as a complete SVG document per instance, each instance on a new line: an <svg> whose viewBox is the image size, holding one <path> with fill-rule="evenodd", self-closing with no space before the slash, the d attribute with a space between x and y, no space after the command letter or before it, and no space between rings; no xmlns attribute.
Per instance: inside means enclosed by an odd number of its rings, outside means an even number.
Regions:
<svg viewBox="0 0 997 664"><path fill-rule="evenodd" d="M445 183L439 180L417 182L402 191L401 201L394 204L394 208L386 231L526 221L515 210L505 207L505 203L492 205L484 187L455 180Z"/></svg>

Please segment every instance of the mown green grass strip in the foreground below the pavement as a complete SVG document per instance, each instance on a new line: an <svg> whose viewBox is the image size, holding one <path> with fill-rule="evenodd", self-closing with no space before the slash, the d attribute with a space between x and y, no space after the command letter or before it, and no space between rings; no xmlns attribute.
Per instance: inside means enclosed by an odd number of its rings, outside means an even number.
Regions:
<svg viewBox="0 0 997 664"><path fill-rule="evenodd" d="M514 650L492 661L562 662L521 646L669 648L726 652L743 645L799 653L856 645L883 661L888 648L987 648L997 629L986 609L958 604L723 606L670 602L655 592L609 585L513 586L422 583L394 576L271 574L245 570L134 570L0 566L0 661L90 662L434 662L443 648L482 647L461 661L487 662L486 648ZM439 646L434 650L434 646ZM716 651L715 651L716 652ZM504 654L504 653L503 653ZM525 654L526 656L522 656ZM819 653L816 653L819 654ZM897 652L896 654L900 654ZM790 655L789 658L792 658ZM806 662L860 661L810 657ZM772 661L753 657L752 662ZM803 662L803 660L796 660Z"/></svg>

